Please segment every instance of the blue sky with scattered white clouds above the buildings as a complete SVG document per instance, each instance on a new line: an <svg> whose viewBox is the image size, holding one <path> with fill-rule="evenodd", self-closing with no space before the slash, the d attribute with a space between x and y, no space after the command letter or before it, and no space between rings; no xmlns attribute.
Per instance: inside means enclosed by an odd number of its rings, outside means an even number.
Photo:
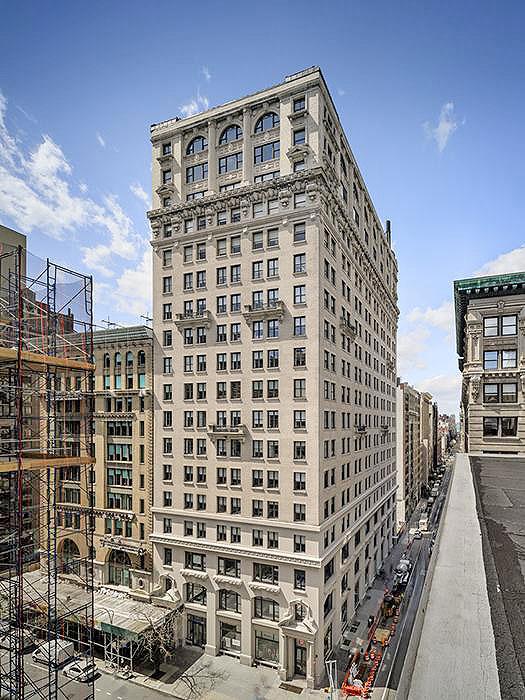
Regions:
<svg viewBox="0 0 525 700"><path fill-rule="evenodd" d="M321 14L319 14L321 10ZM400 268L399 372L457 407L451 284L525 269L519 2L2 3L0 222L151 311L149 124L320 65Z"/></svg>

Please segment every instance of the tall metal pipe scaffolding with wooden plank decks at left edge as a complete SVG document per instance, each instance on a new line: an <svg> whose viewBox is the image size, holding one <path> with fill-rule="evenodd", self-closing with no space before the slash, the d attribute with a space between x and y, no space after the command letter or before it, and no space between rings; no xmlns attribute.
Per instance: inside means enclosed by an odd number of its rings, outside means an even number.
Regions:
<svg viewBox="0 0 525 700"><path fill-rule="evenodd" d="M0 251L0 697L65 698L57 644L93 655L93 312L91 277ZM39 571L45 586L31 583ZM88 591L58 597L61 579ZM69 648L72 648L69 645ZM69 689L68 689L69 686ZM76 685L78 689L78 685ZM75 697L94 698L94 683Z"/></svg>

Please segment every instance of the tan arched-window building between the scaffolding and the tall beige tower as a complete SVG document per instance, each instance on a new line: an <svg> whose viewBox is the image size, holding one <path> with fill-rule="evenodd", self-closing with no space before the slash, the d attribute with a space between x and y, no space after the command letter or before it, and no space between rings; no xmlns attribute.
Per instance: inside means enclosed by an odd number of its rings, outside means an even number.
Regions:
<svg viewBox="0 0 525 700"><path fill-rule="evenodd" d="M148 598L152 582L153 332L146 326L96 331L93 348L94 583ZM73 391L63 410L70 423L80 426L77 404ZM74 473L64 472L60 477L63 513L58 550L63 558L83 557L86 543L74 505L80 503L80 488Z"/></svg>

